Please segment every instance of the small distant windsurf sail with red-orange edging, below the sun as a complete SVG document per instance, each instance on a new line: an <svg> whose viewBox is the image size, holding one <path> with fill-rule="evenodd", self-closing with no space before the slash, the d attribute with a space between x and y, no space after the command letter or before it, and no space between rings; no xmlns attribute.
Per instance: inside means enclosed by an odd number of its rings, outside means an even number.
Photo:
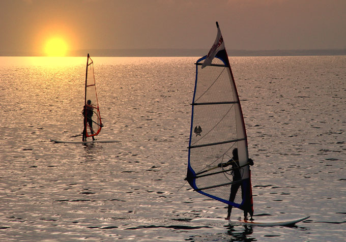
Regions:
<svg viewBox="0 0 346 242"><path fill-rule="evenodd" d="M98 135L103 125L97 99L94 63L89 54L86 61L85 98L82 114L84 116L84 127L86 127L86 137Z"/></svg>

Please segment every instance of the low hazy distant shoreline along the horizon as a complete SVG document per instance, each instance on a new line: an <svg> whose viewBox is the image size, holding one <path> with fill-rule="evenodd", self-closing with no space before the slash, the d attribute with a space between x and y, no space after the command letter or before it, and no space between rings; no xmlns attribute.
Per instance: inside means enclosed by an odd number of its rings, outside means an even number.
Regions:
<svg viewBox="0 0 346 242"><path fill-rule="evenodd" d="M89 49L70 51L68 56L102 57L184 57L203 56L209 49ZM228 56L312 56L346 55L346 49L301 49L301 50L227 50ZM0 56L42 56L26 51L0 51Z"/></svg>

